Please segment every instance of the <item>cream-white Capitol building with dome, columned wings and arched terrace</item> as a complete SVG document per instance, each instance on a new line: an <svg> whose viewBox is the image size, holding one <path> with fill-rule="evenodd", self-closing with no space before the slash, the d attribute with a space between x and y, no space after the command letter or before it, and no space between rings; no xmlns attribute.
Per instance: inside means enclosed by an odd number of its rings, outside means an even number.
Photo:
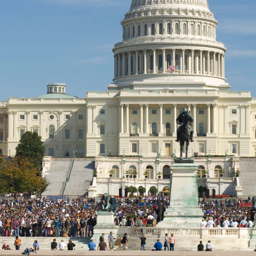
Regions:
<svg viewBox="0 0 256 256"><path fill-rule="evenodd" d="M207 0L132 0L121 22L123 40L112 49L108 90L76 97L65 93L65 84L47 84L47 94L2 101L0 152L15 155L22 134L34 131L55 160L95 156L91 195L117 195L130 185L163 191L173 156L180 155L176 118L186 107L194 117L189 155L198 164L198 185L216 194L247 195L241 183L249 158L241 157L255 156L256 98L230 90L217 23ZM51 170L51 160L45 164Z"/></svg>

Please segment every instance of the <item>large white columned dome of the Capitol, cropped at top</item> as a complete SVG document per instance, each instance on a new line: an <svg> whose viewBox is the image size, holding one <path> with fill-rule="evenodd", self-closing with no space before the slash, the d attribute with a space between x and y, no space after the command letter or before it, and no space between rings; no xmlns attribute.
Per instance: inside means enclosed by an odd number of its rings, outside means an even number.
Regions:
<svg viewBox="0 0 256 256"><path fill-rule="evenodd" d="M123 41L113 48L109 90L167 85L229 90L226 48L216 40L217 24L207 0L132 0L121 21Z"/></svg>

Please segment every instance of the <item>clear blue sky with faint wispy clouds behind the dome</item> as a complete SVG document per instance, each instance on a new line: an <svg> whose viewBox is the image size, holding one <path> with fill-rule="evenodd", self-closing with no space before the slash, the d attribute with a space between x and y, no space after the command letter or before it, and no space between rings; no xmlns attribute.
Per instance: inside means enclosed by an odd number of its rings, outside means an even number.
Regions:
<svg viewBox="0 0 256 256"><path fill-rule="evenodd" d="M209 0L219 21L217 40L228 51L225 76L231 90L255 88L256 1ZM131 0L8 0L0 9L0 100L35 97L47 83L85 97L112 83L112 48L122 41L120 21Z"/></svg>

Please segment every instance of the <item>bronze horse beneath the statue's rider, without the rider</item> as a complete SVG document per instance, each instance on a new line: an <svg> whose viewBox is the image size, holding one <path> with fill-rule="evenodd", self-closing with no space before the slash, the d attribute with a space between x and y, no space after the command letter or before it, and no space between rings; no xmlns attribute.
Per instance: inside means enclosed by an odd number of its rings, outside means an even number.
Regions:
<svg viewBox="0 0 256 256"><path fill-rule="evenodd" d="M186 159L188 159L188 145L190 142L190 129L194 122L194 118L190 115L190 111L184 115L184 120L181 129L180 129L180 159L183 159L183 149L186 141Z"/></svg>

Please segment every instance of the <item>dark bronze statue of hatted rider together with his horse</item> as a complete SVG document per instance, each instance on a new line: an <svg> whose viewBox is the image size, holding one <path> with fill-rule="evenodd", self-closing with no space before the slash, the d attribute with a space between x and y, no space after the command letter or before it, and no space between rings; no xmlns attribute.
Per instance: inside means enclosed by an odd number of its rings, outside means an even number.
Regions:
<svg viewBox="0 0 256 256"><path fill-rule="evenodd" d="M190 111L187 111L187 108L183 108L182 113L176 119L177 124L179 124L179 128L177 129L177 139L176 141L180 141L180 159L183 159L183 150L184 144L186 141L186 159L188 159L188 145L189 142L193 142L193 122L194 118L190 115Z"/></svg>

